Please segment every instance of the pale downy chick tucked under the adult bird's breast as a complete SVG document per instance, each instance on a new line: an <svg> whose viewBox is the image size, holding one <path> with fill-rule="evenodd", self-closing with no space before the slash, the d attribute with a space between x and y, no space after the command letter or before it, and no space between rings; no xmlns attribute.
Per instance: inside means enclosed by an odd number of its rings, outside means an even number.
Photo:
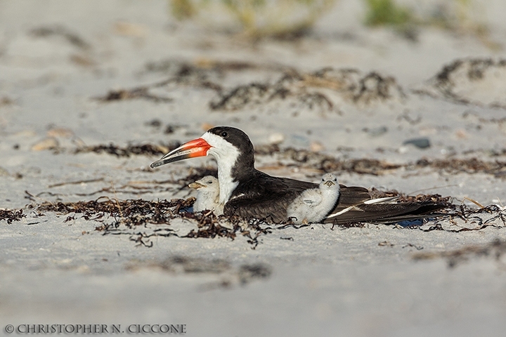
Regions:
<svg viewBox="0 0 506 337"><path fill-rule="evenodd" d="M197 199L193 204L193 211L214 211L216 216L223 214L223 206L219 204L218 179L213 176L205 176L202 179L188 185L197 190Z"/></svg>

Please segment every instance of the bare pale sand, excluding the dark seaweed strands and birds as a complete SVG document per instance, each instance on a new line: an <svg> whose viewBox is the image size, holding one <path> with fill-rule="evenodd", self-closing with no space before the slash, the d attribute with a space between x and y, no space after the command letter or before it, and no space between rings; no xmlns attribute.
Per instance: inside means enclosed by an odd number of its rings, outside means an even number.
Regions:
<svg viewBox="0 0 506 337"><path fill-rule="evenodd" d="M188 168L212 164L193 159L146 170L160 156L117 158L108 154L72 154L77 143L168 143L186 141L204 132L203 124L242 128L255 145L280 138L281 147L320 150L333 157L382 159L393 164L423 157L476 157L505 161L505 67L486 67L470 80L466 66L455 73L457 98L443 97L429 81L443 66L469 57L504 56L469 35L434 28L421 29L418 42L389 29L365 29L358 1L341 1L313 33L298 41L260 41L195 23L181 24L167 14L166 1L2 1L0 3L0 152L1 207L25 208L25 190L45 200L154 200L188 197L179 185L157 186L153 180L181 178ZM484 15L491 39L506 46L503 1L486 1ZM118 24L118 22L122 22ZM337 22L337 23L336 23ZM46 37L32 29L62 27ZM60 28L61 29L61 28ZM66 29L66 30L65 30ZM72 44L61 32L77 34L85 44ZM147 71L149 62L172 61L167 71ZM178 62L195 65L241 61L247 70L207 72L224 88L252 81L273 83L280 68L308 74L323 67L353 68L393 77L392 98L353 103L346 93L294 84L286 100L256 98L236 111L211 110L217 94L197 83L151 88L172 101L134 99L110 103L93 98L110 90L148 86L174 75ZM193 79L193 80L192 80ZM413 90L424 91L423 95ZM300 91L298 91L300 90ZM306 90L306 91L304 91ZM300 100L318 91L327 103ZM297 115L297 116L294 116ZM161 128L146 126L153 119ZM166 124L181 126L169 135ZM63 128L65 130L57 130ZM51 131L52 130L52 131ZM307 131L312 131L308 133ZM274 137L275 134L278 136ZM58 141L59 154L34 151L48 137ZM403 145L410 138L429 138L420 150ZM52 140L54 141L54 140ZM18 146L18 150L13 147ZM338 147L341 150L336 150ZM377 151L381 147L383 151ZM284 157L258 156L268 173L317 181L322 172L300 169ZM16 178L16 174L22 178ZM506 202L506 180L490 173L447 173L427 167L386 171L380 176L339 172L340 183L405 193L437 193L465 197L483 205ZM101 179L77 185L54 184ZM129 186L148 187L143 194ZM147 183L146 183L147 182ZM151 182L151 183L150 183ZM111 185L118 190L82 196ZM125 186L126 187L123 187ZM434 187L434 188L433 188ZM167 191L167 189L169 189ZM465 201L467 205L473 205ZM187 324L188 336L502 336L506 329L504 258L471 256L448 267L446 259L413 260L415 253L452 251L505 239L505 224L494 220L481 230L453 232L476 223L441 222L443 230L424 232L387 225L345 229L312 225L299 230L273 230L259 237L256 249L239 235L235 240L152 237L153 246L136 246L129 235L102 235L100 223L64 222L67 215L45 212L0 222L0 328L6 324ZM108 219L112 221L112 219ZM181 234L195 228L174 220ZM152 233L155 225L133 232ZM84 234L83 234L84 232ZM285 239L281 239L285 238ZM292 238L292 239L287 239ZM420 250L419 250L420 249ZM166 258L185 256L200 265L214 259L224 270L169 272ZM242 265L261 264L271 275L240 284ZM155 265L155 266L153 266ZM181 267L181 266L180 266ZM176 268L177 269L177 268ZM181 268L180 268L181 269ZM223 283L228 284L223 287Z"/></svg>

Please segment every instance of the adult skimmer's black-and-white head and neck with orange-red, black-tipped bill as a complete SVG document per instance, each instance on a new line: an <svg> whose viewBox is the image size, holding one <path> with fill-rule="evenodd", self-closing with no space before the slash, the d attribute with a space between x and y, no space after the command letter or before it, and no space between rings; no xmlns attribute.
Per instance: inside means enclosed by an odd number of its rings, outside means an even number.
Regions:
<svg viewBox="0 0 506 337"><path fill-rule="evenodd" d="M211 155L218 163L220 203L225 204L240 180L254 170L254 148L246 133L231 126L216 126L151 164L157 166L188 158Z"/></svg>

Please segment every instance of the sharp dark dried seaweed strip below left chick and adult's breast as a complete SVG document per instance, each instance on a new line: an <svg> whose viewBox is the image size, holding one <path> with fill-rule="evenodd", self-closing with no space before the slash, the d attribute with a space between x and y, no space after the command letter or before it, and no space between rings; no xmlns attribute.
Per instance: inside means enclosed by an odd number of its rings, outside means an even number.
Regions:
<svg viewBox="0 0 506 337"><path fill-rule="evenodd" d="M85 220L95 220L102 225L98 225L96 230L103 234L128 234L130 239L137 244L150 246L149 241L153 236L176 236L188 238L209 238L227 237L235 239L236 233L240 232L247 237L247 242L252 244L254 249L258 244L258 237L261 234L267 234L269 227L261 227L265 224L261 220L250 220L247 230L244 230L245 220L232 216L216 217L214 213L189 213L182 211L193 205L195 198L171 199L160 201L145 201L142 199L117 200L108 197L100 197L92 201L77 202L55 202L32 205L31 208L37 208L37 211L52 211L60 214L82 214ZM70 218L75 219L75 216ZM108 218L113 218L112 222L107 222ZM167 227L155 229L153 233L139 232L136 228L147 224L170 225L174 218L183 218L192 220L197 224L197 230L190 230L188 234L180 236ZM69 217L67 217L67 220ZM67 221L65 220L65 221ZM126 227L127 231L123 228ZM128 230L136 230L134 232Z"/></svg>

